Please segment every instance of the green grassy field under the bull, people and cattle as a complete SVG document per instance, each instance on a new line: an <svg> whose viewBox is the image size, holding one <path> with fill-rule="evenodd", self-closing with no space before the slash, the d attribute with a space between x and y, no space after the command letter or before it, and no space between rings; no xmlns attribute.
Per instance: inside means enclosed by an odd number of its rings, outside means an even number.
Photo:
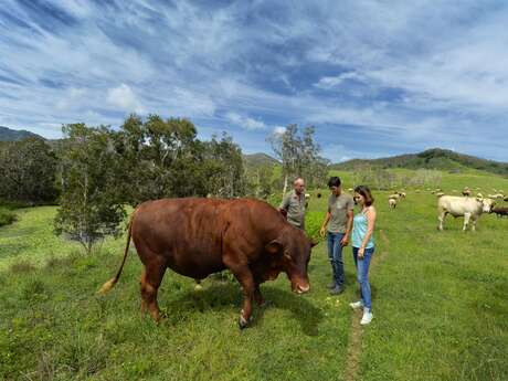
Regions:
<svg viewBox="0 0 508 381"><path fill-rule="evenodd" d="M349 188L346 173L345 188ZM446 174L442 188L508 190L478 172ZM485 191L486 193L487 191ZM313 199L307 225L324 218L328 191ZM347 290L330 297L326 247L315 247L311 292L289 292L285 276L262 286L271 304L239 331L235 283L207 279L203 290L166 274L160 326L139 313L141 266L133 252L120 283L95 292L116 271L124 239L91 256L52 234L55 208L19 210L0 229L0 379L2 380L508 380L508 219L484 215L476 233L447 220L436 231L435 197L415 194L379 211L371 274L373 322L351 359L357 298L350 248ZM349 378L351 379L351 378Z"/></svg>

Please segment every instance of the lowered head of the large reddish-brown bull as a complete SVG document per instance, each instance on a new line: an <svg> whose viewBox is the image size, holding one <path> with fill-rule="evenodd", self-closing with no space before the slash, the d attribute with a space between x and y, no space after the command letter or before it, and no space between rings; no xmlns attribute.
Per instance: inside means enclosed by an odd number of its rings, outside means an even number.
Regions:
<svg viewBox="0 0 508 381"><path fill-rule="evenodd" d="M266 245L266 251L276 256L287 274L295 293L304 294L310 289L307 267L313 246L315 243L301 230L293 226L285 229L278 239Z"/></svg>

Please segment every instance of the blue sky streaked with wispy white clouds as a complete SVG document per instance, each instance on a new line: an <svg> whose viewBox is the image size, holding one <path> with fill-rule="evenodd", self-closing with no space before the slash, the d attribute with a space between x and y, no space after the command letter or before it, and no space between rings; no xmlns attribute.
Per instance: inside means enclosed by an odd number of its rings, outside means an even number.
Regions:
<svg viewBox="0 0 508 381"><path fill-rule="evenodd" d="M508 161L506 1L2 0L0 125L61 136L129 113L332 161L443 147Z"/></svg>

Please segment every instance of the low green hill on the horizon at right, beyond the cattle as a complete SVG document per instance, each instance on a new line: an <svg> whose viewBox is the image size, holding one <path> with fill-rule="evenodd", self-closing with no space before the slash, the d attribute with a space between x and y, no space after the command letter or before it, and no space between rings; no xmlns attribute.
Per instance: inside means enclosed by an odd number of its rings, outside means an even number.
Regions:
<svg viewBox="0 0 508 381"><path fill-rule="evenodd" d="M380 159L353 159L335 163L332 169L352 170L361 166L406 169L441 169L461 171L465 168L478 169L508 177L508 162L480 159L475 156L454 152L448 149L432 148L420 154L408 154Z"/></svg>

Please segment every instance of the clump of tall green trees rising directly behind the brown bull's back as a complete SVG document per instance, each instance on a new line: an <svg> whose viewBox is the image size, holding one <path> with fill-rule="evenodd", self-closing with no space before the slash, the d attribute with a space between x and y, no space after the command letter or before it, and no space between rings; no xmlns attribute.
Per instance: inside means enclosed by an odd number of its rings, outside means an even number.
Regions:
<svg viewBox="0 0 508 381"><path fill-rule="evenodd" d="M169 197L244 194L242 151L227 135L201 141L187 119L130 115L114 139L124 197L133 207Z"/></svg>

